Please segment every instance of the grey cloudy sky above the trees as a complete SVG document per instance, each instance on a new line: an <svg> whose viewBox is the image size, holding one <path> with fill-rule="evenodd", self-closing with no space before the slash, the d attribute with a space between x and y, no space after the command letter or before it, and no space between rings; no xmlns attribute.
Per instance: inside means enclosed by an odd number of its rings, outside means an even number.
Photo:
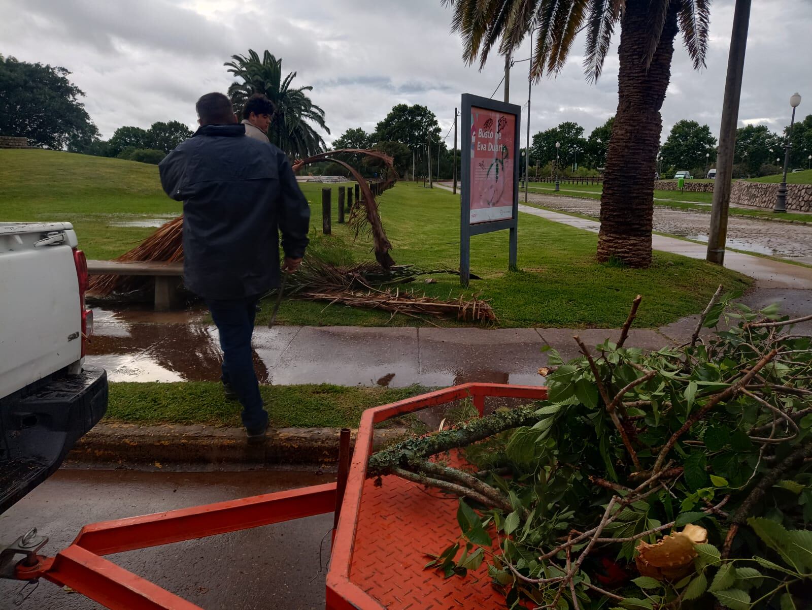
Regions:
<svg viewBox="0 0 812 610"><path fill-rule="evenodd" d="M706 69L693 71L678 46L663 139L680 119L718 132L732 13L732 0L713 3ZM372 131L400 102L428 106L445 135L460 94L490 97L503 73L498 55L483 71L464 65L439 0L0 0L0 15L0 54L71 70L104 137L159 120L193 126L197 97L225 91L222 63L249 48L270 50L283 71L298 73L296 84L313 85L334 138L347 128ZM616 44L597 85L581 69L583 39L555 80L533 85L532 132L572 120L589 133L614 114ZM527 102L527 66L512 69L513 103ZM779 130L795 91L804 96L801 116L812 113L812 0L754 0L740 124Z"/></svg>

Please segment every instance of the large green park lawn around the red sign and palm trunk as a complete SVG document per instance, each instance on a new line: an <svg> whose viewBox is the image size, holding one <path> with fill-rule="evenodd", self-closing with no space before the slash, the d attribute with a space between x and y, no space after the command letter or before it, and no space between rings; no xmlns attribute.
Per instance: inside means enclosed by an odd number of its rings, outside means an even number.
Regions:
<svg viewBox="0 0 812 610"><path fill-rule="evenodd" d="M322 184L305 184L312 201L313 236L321 232ZM334 188L335 193L335 188ZM89 257L114 257L149 235L151 227L114 227L120 220L156 218L180 212L158 184L158 168L118 159L43 150L0 151L2 220L60 220L74 223ZM335 200L334 200L335 201ZM399 264L436 269L459 266L459 199L439 189L399 183L380 198L380 212ZM372 258L367 236L353 240L336 222L328 241L344 244L359 260ZM519 271L508 272L508 234L474 236L471 270L480 275L467 290L452 275L415 288L429 296L456 298L476 293L488 299L502 327L620 327L634 296L644 296L637 327L658 327L701 311L719 283L726 288L749 285L744 276L704 261L654 253L648 270L595 262L597 236L543 218L521 214ZM259 318L267 319L270 302ZM405 315L284 301L279 322L313 325L426 325ZM453 322L449 323L453 325ZM446 324L446 325L449 325Z"/></svg>

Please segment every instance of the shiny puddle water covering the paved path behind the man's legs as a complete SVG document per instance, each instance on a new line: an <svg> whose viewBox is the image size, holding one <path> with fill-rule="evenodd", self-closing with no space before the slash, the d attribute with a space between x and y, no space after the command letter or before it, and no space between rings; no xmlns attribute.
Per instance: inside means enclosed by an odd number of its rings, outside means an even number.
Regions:
<svg viewBox="0 0 812 610"><path fill-rule="evenodd" d="M111 311L108 305L93 313L96 328L88 362L103 366L111 382L220 378L218 331L205 322L205 309L158 313L145 308ZM408 331L401 331L393 340L391 334L373 329L257 327L253 363L260 383L277 385L542 385L544 378L536 373L543 364L538 342L502 343L502 335L493 332L474 348L445 341L421 340L418 344L417 332L410 335ZM387 347L382 349L382 344ZM518 372L508 373L502 367Z"/></svg>

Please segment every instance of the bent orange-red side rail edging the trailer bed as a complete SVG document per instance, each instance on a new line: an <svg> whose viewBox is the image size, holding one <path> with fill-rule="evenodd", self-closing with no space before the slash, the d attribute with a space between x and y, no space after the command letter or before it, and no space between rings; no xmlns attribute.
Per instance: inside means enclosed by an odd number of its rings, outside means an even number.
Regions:
<svg viewBox="0 0 812 610"><path fill-rule="evenodd" d="M391 405L367 409L364 412L361 417L361 425L358 427L356 448L352 454L352 465L350 465L339 526L335 531L333 552L330 557L330 572L327 573L327 610L385 610L377 600L367 595L349 578L356 538L356 517L366 478L366 463L372 453L374 425L403 413L412 413L426 407L443 405L465 398L472 398L477 410L482 413L485 408L485 398L488 396L543 400L547 397L547 388L510 386L501 383L465 383L430 394L400 400Z"/></svg>

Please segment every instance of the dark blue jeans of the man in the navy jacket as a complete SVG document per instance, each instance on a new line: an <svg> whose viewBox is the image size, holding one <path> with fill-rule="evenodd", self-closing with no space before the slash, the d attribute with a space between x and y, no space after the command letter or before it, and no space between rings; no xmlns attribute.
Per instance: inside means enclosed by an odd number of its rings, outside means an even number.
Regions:
<svg viewBox="0 0 812 610"><path fill-rule="evenodd" d="M262 408L257 374L253 369L251 335L257 316L259 296L242 299L207 299L211 317L220 332L222 383L234 388L243 405L243 425L247 430L265 429L268 413Z"/></svg>

